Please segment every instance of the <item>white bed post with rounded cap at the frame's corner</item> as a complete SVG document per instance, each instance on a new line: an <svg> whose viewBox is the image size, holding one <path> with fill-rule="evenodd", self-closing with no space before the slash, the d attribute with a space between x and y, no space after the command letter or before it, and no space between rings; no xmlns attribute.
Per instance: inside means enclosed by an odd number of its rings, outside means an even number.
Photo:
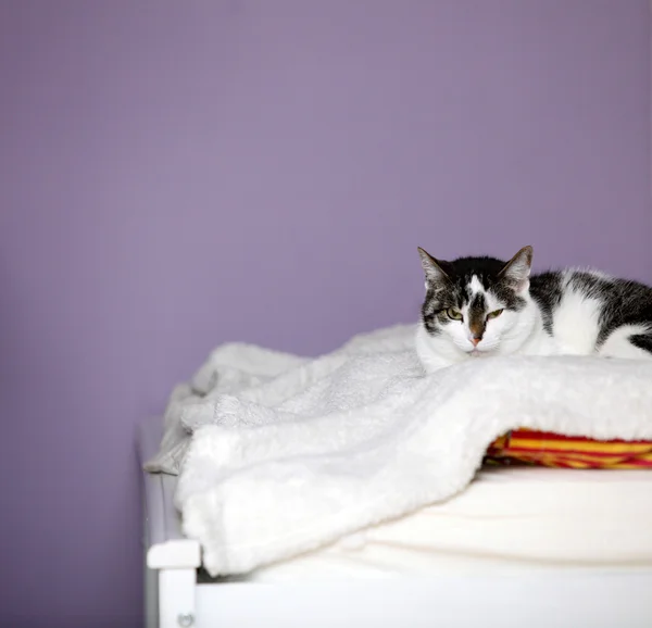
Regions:
<svg viewBox="0 0 652 628"><path fill-rule="evenodd" d="M201 552L197 541L178 539L152 545L147 552L148 569L158 572L159 628L188 628L196 624L195 594ZM153 618L151 618L153 619ZM149 623L148 623L149 625Z"/></svg>

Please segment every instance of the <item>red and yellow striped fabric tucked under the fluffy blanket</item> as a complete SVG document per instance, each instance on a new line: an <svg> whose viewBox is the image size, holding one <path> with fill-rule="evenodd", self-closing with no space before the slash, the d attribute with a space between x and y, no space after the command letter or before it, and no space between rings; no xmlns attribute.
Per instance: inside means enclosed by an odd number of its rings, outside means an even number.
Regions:
<svg viewBox="0 0 652 628"><path fill-rule="evenodd" d="M652 442L561 436L529 429L513 430L489 445L486 461L513 461L565 468L650 468Z"/></svg>

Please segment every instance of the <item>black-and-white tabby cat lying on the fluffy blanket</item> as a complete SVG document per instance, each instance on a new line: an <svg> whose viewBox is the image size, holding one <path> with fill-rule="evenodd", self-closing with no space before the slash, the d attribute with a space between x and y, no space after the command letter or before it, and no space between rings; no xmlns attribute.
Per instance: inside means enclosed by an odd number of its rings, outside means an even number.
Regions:
<svg viewBox="0 0 652 628"><path fill-rule="evenodd" d="M510 354L652 360L652 288L643 284L593 269L530 275L531 247L509 262L418 252L426 297L416 350L428 372Z"/></svg>

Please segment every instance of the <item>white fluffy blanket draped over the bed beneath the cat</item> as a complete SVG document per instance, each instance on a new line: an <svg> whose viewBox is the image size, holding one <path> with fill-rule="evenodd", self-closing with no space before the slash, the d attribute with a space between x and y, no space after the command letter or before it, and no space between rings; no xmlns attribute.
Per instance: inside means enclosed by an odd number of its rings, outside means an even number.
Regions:
<svg viewBox="0 0 652 628"><path fill-rule="evenodd" d="M652 439L652 362L512 356L426 375L414 330L316 360L227 344L177 387L146 468L180 468L176 504L211 575L450 499L509 429Z"/></svg>

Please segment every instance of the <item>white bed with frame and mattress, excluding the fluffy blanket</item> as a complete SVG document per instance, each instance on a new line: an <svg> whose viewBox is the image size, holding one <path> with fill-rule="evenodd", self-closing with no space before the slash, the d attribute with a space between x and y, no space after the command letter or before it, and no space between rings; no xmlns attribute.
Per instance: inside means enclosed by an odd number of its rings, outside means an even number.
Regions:
<svg viewBox="0 0 652 628"><path fill-rule="evenodd" d="M139 456L161 441L141 424ZM142 474L148 627L652 626L652 474L484 468L447 503L213 579L176 477Z"/></svg>

